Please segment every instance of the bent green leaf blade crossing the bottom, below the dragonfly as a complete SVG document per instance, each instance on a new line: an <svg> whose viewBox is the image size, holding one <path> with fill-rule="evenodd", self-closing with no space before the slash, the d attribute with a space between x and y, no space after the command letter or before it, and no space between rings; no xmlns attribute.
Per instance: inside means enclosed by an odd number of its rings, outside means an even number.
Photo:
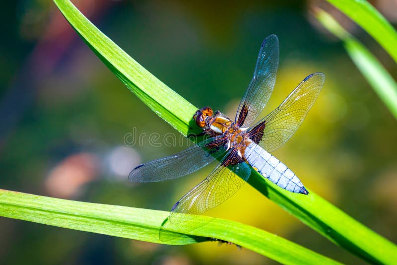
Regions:
<svg viewBox="0 0 397 265"><path fill-rule="evenodd" d="M233 221L197 216L201 222L191 235L173 241L159 239L161 224L169 212L55 199L0 190L0 216L100 233L135 240L186 245L217 238L233 242L283 264L338 264L337 262L276 235ZM171 231L173 232L173 231Z"/></svg>

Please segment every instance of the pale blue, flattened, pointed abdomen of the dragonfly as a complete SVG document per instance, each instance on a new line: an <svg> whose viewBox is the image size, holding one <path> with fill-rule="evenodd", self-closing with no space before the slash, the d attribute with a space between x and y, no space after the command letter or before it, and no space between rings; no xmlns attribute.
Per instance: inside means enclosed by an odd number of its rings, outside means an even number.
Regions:
<svg viewBox="0 0 397 265"><path fill-rule="evenodd" d="M282 189L308 194L298 177L286 165L256 143L247 146L245 159L262 176Z"/></svg>

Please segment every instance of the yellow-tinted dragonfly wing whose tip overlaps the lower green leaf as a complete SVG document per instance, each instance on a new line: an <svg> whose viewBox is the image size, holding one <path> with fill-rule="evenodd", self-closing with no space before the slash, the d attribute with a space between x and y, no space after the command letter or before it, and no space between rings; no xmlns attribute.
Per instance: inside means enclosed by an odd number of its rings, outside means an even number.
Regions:
<svg viewBox="0 0 397 265"><path fill-rule="evenodd" d="M250 167L237 151L230 150L202 182L175 203L169 217L171 223L187 221L192 214L201 214L229 199L248 180L250 173Z"/></svg>

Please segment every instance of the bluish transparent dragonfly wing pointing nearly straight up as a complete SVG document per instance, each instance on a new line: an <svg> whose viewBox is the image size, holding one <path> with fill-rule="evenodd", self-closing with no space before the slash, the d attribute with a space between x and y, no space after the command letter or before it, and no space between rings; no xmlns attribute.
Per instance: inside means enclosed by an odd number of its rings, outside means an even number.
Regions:
<svg viewBox="0 0 397 265"><path fill-rule="evenodd" d="M254 76L240 102L235 121L240 127L249 127L258 118L273 92L278 68L278 39L268 36L259 50Z"/></svg>

